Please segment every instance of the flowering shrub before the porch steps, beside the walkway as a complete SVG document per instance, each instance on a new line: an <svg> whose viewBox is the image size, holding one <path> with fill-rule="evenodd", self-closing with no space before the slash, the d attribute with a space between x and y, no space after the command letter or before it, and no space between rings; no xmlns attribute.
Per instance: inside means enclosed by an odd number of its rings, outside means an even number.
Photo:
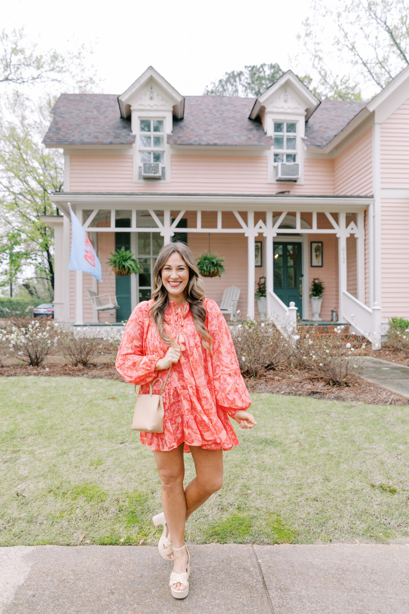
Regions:
<svg viewBox="0 0 409 614"><path fill-rule="evenodd" d="M346 341L343 326L334 333L320 333L313 327L298 327L294 336L291 362L295 367L312 371L331 386L350 386L362 372L360 362L354 361L357 341Z"/></svg>

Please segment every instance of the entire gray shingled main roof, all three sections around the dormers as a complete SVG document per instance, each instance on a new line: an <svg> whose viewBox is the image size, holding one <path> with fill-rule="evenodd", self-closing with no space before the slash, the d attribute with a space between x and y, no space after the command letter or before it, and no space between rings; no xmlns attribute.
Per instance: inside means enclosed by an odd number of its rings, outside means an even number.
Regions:
<svg viewBox="0 0 409 614"><path fill-rule="evenodd" d="M259 120L248 116L254 98L186 96L183 119L174 119L167 142L190 146L271 146ZM307 147L325 147L365 103L324 100L305 124ZM131 145L131 120L121 119L113 94L62 94L44 143L58 145Z"/></svg>

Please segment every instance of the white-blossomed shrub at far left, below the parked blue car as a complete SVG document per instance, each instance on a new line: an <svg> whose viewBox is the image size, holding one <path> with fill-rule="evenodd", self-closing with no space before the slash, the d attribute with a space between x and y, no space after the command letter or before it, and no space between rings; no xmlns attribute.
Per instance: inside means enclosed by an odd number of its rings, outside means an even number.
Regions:
<svg viewBox="0 0 409 614"><path fill-rule="evenodd" d="M6 328L7 354L31 367L39 367L55 351L59 340L58 324L52 320L13 320Z"/></svg>

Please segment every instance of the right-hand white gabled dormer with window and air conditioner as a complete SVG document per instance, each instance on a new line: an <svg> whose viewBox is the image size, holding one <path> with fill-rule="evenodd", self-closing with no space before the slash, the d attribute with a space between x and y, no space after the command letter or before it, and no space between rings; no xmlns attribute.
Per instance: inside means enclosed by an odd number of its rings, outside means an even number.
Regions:
<svg viewBox="0 0 409 614"><path fill-rule="evenodd" d="M269 153L269 183L304 183L305 122L318 105L318 98L292 71L256 99L250 119L260 117L266 134L274 139Z"/></svg>

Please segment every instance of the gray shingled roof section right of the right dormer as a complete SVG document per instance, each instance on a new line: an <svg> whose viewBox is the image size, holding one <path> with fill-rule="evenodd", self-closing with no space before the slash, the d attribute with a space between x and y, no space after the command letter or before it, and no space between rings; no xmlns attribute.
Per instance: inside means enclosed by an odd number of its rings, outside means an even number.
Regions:
<svg viewBox="0 0 409 614"><path fill-rule="evenodd" d="M305 123L305 145L325 147L355 117L366 103L323 100Z"/></svg>

